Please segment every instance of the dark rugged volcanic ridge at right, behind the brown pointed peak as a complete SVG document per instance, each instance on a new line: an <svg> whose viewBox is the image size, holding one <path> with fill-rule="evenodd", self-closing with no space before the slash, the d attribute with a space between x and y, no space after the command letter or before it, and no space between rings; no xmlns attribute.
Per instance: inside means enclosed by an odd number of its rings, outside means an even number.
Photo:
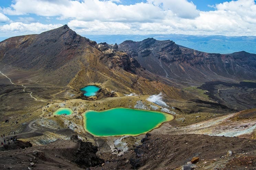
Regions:
<svg viewBox="0 0 256 170"><path fill-rule="evenodd" d="M155 75L180 83L229 79L256 79L256 54L245 51L232 54L205 53L177 45L170 40L147 38L124 41L119 50L130 54Z"/></svg>

